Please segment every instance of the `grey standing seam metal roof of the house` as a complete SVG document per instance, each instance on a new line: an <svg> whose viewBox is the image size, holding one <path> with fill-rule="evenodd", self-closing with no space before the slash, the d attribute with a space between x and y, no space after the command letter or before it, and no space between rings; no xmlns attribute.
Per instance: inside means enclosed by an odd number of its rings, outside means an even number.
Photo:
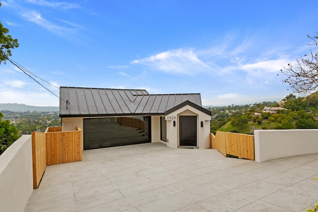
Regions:
<svg viewBox="0 0 318 212"><path fill-rule="evenodd" d="M60 117L163 115L187 101L202 107L200 94L151 95L146 90L60 87Z"/></svg>

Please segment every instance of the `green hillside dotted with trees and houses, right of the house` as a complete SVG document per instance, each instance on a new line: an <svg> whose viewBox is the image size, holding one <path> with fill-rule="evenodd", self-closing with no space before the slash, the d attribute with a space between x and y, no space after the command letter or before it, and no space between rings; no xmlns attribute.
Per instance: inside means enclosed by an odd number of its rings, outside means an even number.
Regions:
<svg viewBox="0 0 318 212"><path fill-rule="evenodd" d="M318 92L298 98L290 94L279 104L263 102L244 106L209 107L207 109L212 112L211 132L253 134L255 129L318 129ZM263 111L264 107L278 106L287 110Z"/></svg>

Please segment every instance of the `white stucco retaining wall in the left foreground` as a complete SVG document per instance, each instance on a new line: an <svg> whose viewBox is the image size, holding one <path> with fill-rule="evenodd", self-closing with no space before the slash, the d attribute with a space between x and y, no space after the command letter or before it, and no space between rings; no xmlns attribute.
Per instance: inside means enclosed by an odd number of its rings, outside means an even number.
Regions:
<svg viewBox="0 0 318 212"><path fill-rule="evenodd" d="M22 135L0 155L0 211L23 212L32 191L32 136Z"/></svg>

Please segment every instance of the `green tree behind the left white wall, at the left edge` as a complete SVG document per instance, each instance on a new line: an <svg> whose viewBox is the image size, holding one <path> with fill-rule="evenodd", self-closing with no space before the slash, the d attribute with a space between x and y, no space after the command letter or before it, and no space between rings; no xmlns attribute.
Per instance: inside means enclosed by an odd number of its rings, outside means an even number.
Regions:
<svg viewBox="0 0 318 212"><path fill-rule="evenodd" d="M2 121L2 117L0 112L0 154L19 138L16 127L12 126L9 120Z"/></svg>

